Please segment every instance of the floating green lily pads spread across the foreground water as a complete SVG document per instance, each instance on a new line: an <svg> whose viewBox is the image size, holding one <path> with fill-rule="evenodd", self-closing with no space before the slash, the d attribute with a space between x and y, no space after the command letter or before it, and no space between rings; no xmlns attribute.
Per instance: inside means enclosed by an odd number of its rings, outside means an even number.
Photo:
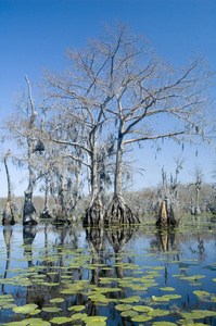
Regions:
<svg viewBox="0 0 216 326"><path fill-rule="evenodd" d="M138 254L132 250L116 253L106 249L100 253L88 248L72 249L69 244L54 243L47 243L45 249L31 244L22 246L23 249L23 258L12 256L11 260L16 265L25 263L25 267L8 267L7 277L5 273L0 274L0 286L2 289L12 286L13 289L22 288L31 292L43 289L49 297L46 297L42 306L36 302L23 304L15 298L15 291L7 294L2 290L0 321L1 312L10 318L5 318L7 323L0 322L0 326L113 325L111 311L118 318L137 325L201 326L206 325L206 317L216 321L216 310L212 309L216 302L215 291L209 293L203 290L203 284L199 281L205 275L192 273L189 267L198 265L198 260L183 259L183 251L167 250L158 254L151 248L148 254ZM3 256L4 252L1 250L0 254ZM101 259L101 254L109 258L109 263ZM165 274L165 266L171 264L178 266L180 273L171 275L171 278L199 287L191 293L199 302L209 303L208 310L182 309L179 303L181 294L174 287L162 286L160 278ZM213 266L216 264L213 263ZM216 278L211 281L214 287ZM76 301L76 297L80 296L82 304ZM89 313L89 304L97 308L94 316Z"/></svg>

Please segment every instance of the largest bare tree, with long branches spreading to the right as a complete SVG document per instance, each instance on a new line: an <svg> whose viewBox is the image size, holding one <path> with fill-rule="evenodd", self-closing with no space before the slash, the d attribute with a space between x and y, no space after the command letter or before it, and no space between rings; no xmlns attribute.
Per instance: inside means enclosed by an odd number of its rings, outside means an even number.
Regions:
<svg viewBox="0 0 216 326"><path fill-rule="evenodd" d="M211 142L212 112L206 89L213 74L203 59L174 68L157 57L150 43L127 25L107 28L103 55L110 63L113 100L106 112L114 117L117 153L114 198L106 221L135 223L123 198L123 151L145 140Z"/></svg>

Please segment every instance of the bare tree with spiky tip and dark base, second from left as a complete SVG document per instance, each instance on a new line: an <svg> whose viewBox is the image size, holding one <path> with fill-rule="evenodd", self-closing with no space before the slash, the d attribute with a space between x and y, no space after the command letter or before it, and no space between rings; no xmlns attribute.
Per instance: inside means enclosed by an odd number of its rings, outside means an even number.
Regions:
<svg viewBox="0 0 216 326"><path fill-rule="evenodd" d="M23 210L23 224L37 224L39 222L38 216L36 214L36 210L31 202L33 199L33 190L36 183L35 175L35 153L38 151L43 151L43 145L39 139L38 134L38 125L37 125L37 116L38 112L35 109L35 101L31 96L31 86L27 76L25 76L28 96L22 95L18 98L16 103L16 112L12 114L7 123L7 126L16 141L20 149L23 149L23 155L14 155L14 161L18 162L18 164L23 165L27 163L28 167L28 187L25 190L25 202ZM27 154L27 155L26 155Z"/></svg>

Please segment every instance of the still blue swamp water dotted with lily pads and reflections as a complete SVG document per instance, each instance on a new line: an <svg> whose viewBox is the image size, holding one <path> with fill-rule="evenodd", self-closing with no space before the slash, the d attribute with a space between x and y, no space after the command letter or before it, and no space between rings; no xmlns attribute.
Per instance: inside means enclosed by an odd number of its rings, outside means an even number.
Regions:
<svg viewBox="0 0 216 326"><path fill-rule="evenodd" d="M216 325L216 220L0 226L0 325Z"/></svg>

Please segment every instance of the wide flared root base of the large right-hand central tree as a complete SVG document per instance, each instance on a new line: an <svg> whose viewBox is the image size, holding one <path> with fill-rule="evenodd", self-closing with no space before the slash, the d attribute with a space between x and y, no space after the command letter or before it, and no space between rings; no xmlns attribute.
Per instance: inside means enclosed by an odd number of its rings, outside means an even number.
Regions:
<svg viewBox="0 0 216 326"><path fill-rule="evenodd" d="M105 213L104 223L107 225L138 224L140 220L132 213L122 196L114 195Z"/></svg>

